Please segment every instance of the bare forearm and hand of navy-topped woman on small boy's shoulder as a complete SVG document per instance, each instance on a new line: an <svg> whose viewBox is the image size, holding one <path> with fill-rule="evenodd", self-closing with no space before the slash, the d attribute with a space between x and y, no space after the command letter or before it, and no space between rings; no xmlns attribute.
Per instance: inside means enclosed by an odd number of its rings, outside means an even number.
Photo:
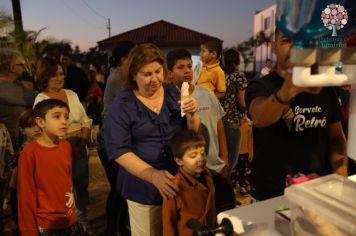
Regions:
<svg viewBox="0 0 356 236"><path fill-rule="evenodd" d="M133 152L127 152L115 160L124 167L130 174L153 184L163 199L174 197L178 187L172 181L174 178L168 171L157 170L145 161L141 160Z"/></svg>

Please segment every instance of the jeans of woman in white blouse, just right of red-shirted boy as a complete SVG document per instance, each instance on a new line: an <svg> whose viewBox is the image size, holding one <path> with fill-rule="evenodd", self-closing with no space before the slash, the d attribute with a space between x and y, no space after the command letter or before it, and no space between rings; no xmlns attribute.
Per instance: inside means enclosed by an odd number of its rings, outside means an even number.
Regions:
<svg viewBox="0 0 356 236"><path fill-rule="evenodd" d="M89 156L85 144L78 137L67 138L72 145L72 180L79 223L88 224Z"/></svg>

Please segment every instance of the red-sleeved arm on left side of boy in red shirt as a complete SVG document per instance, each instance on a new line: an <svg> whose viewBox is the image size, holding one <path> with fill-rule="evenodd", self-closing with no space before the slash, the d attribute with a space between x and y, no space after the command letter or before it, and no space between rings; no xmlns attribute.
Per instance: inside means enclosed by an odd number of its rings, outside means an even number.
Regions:
<svg viewBox="0 0 356 236"><path fill-rule="evenodd" d="M18 216L22 235L37 236L37 197L34 180L35 157L26 148L19 158L18 167Z"/></svg>

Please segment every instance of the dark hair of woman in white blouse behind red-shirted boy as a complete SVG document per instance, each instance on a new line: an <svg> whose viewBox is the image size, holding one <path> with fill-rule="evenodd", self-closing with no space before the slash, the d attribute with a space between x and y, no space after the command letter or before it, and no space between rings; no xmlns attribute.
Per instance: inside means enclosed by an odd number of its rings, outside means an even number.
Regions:
<svg viewBox="0 0 356 236"><path fill-rule="evenodd" d="M59 62L51 57L41 58L36 65L35 80L39 92L48 87L48 80L55 76L61 66Z"/></svg>

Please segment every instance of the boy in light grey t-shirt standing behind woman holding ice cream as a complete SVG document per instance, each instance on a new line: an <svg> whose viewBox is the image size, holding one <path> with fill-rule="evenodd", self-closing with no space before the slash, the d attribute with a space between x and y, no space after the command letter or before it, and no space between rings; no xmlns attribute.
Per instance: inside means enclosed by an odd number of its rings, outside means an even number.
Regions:
<svg viewBox="0 0 356 236"><path fill-rule="evenodd" d="M229 179L227 142L222 118L225 111L215 94L209 89L192 84L191 54L186 49L174 49L167 53L168 81L181 88L183 82L190 84L189 96L198 103L201 132L206 140L206 167L212 173L215 186L216 212L235 207L236 200Z"/></svg>

